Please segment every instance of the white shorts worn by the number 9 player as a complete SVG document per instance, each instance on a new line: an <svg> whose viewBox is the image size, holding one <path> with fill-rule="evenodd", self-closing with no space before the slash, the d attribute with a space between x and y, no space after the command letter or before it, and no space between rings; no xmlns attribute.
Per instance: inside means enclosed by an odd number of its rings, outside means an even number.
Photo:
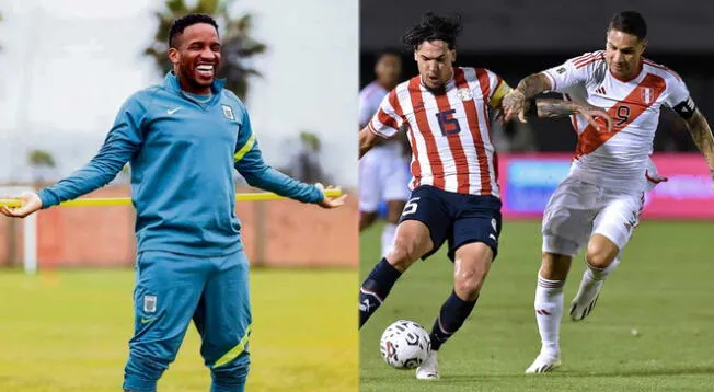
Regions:
<svg viewBox="0 0 714 392"><path fill-rule="evenodd" d="M622 252L640 223L643 207L643 192L606 189L567 177L543 212L543 252L575 256L596 233Z"/></svg>

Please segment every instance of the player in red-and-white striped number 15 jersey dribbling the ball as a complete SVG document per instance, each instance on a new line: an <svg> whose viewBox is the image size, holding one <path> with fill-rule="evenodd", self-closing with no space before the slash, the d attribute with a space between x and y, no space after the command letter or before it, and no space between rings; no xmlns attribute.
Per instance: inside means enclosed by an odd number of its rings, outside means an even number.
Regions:
<svg viewBox="0 0 714 392"><path fill-rule="evenodd" d="M406 33L403 41L414 50L419 74L390 91L359 134L361 157L379 138L394 137L402 124L408 124L413 175L393 249L360 287L360 327L404 270L444 242L449 244L453 290L430 333L433 354L416 371L417 379L425 380L438 379L437 351L473 310L500 233L488 107L499 108L510 88L487 69L453 66L460 30L460 18L427 13ZM560 100L539 100L530 113L578 113L594 126L595 116L608 119L594 106Z"/></svg>

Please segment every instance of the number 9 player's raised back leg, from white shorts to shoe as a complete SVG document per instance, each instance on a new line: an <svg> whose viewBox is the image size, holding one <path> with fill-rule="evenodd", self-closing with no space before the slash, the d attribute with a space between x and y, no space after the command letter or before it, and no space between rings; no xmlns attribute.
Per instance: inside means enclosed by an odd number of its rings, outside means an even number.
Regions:
<svg viewBox="0 0 714 392"><path fill-rule="evenodd" d="M644 195L608 196L607 205L595 218L585 256L586 269L578 292L571 303L571 319L588 316L598 301L604 279L620 264L620 254L638 224Z"/></svg>

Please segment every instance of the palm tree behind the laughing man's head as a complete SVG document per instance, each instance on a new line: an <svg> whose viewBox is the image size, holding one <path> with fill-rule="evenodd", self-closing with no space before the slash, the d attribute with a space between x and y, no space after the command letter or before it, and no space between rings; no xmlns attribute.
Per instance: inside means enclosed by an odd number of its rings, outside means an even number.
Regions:
<svg viewBox="0 0 714 392"><path fill-rule="evenodd" d="M152 57L157 69L162 74L171 70L172 66L166 58L169 49L169 31L171 23L178 16L187 13L207 13L218 21L221 35L221 65L218 76L226 78L226 88L233 91L239 97L247 94L247 78L261 73L246 64L246 59L263 54L266 45L251 36L252 16L244 14L238 19L228 12L228 2L220 0L198 0L194 7L188 7L185 0L166 0L164 10L156 12L159 22L153 43L143 51Z"/></svg>

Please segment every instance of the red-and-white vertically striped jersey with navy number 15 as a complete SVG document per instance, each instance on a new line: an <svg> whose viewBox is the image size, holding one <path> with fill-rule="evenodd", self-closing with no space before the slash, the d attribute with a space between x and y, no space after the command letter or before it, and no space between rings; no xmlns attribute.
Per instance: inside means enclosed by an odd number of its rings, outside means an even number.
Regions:
<svg viewBox="0 0 714 392"><path fill-rule="evenodd" d="M408 123L411 189L431 185L499 197L486 105L500 106L508 91L500 77L483 68L454 67L453 78L440 93L424 87L416 76L390 91L368 127L390 138Z"/></svg>

